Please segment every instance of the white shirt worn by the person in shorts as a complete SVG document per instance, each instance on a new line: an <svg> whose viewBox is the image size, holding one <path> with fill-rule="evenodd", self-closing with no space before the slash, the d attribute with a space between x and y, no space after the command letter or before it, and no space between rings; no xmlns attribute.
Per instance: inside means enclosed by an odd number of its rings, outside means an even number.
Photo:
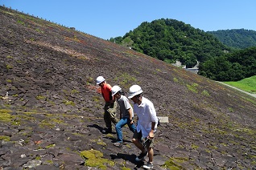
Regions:
<svg viewBox="0 0 256 170"><path fill-rule="evenodd" d="M155 130L159 121L156 116L154 104L147 98L142 97L142 103L134 104L134 113L138 115L137 132L142 131L142 137L146 138L151 132L152 122L155 122Z"/></svg>

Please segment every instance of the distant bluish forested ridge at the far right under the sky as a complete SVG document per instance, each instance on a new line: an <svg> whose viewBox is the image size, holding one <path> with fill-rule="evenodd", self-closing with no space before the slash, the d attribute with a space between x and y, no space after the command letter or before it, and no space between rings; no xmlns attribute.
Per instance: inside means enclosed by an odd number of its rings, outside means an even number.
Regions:
<svg viewBox="0 0 256 170"><path fill-rule="evenodd" d="M228 47L245 49L256 47L256 31L245 29L208 31Z"/></svg>

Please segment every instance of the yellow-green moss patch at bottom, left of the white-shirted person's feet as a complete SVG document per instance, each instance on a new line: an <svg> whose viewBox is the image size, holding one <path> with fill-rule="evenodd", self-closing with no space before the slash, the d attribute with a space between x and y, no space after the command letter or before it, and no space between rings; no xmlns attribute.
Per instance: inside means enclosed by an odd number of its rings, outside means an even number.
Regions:
<svg viewBox="0 0 256 170"><path fill-rule="evenodd" d="M81 157L85 159L85 166L95 167L100 169L106 169L105 164L109 164L110 166L114 166L114 162L111 160L107 160L102 158L103 153L97 150L89 150L81 152Z"/></svg>

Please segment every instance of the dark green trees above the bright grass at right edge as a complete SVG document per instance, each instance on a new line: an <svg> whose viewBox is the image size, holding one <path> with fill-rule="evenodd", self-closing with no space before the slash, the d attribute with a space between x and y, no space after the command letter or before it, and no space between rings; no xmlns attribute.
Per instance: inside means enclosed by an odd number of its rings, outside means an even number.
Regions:
<svg viewBox="0 0 256 170"><path fill-rule="evenodd" d="M237 81L256 75L256 47L209 59L200 64L199 74L219 81Z"/></svg>

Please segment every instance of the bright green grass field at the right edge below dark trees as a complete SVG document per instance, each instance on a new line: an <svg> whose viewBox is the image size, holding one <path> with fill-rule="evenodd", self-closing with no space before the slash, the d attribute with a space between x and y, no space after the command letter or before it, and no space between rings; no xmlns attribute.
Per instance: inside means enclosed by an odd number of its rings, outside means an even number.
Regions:
<svg viewBox="0 0 256 170"><path fill-rule="evenodd" d="M243 91L256 94L256 75L246 79L242 79L237 82L222 82L222 83L229 84L230 86L237 87Z"/></svg>

